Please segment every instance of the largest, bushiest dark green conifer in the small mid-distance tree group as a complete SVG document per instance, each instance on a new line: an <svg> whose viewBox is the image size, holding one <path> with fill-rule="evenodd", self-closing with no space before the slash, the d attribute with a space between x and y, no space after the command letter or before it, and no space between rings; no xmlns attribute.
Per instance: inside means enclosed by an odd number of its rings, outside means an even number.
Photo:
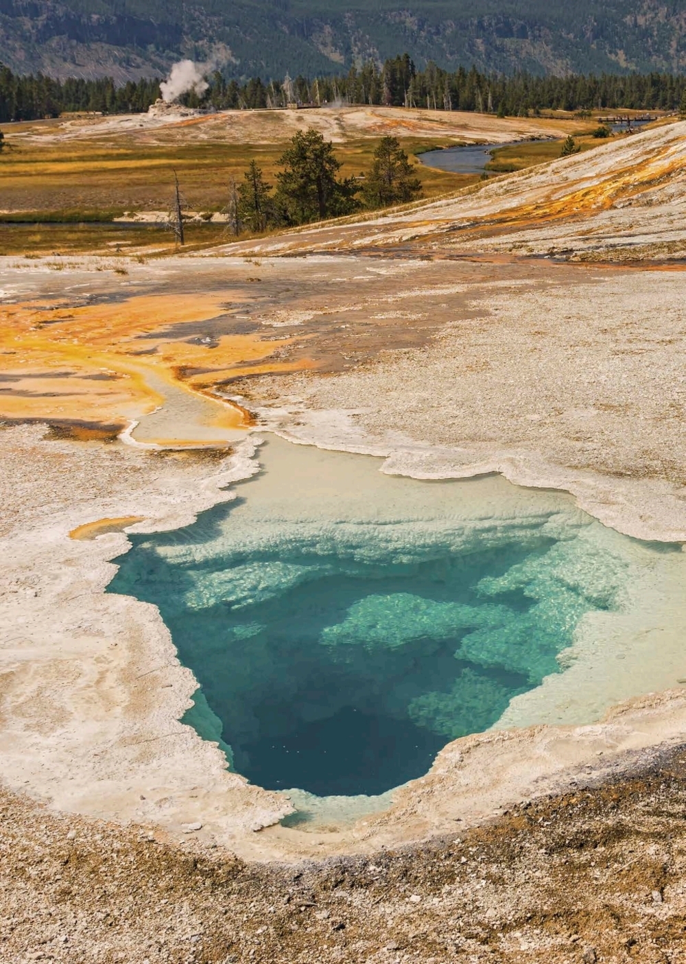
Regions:
<svg viewBox="0 0 686 964"><path fill-rule="evenodd" d="M333 145L313 127L298 131L278 163L283 170L277 174L275 201L286 224L324 221L358 207L355 179L338 177L341 162Z"/></svg>

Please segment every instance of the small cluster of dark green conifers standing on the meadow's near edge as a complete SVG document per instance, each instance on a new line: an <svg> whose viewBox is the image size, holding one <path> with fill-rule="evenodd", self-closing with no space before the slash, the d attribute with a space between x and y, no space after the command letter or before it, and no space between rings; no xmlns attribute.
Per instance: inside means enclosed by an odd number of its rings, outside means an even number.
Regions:
<svg viewBox="0 0 686 964"><path fill-rule="evenodd" d="M422 194L409 157L397 138L383 137L364 177L342 177L333 145L310 127L298 131L278 160L276 184L252 160L243 180L229 187L229 228L262 232L324 221L413 201Z"/></svg>

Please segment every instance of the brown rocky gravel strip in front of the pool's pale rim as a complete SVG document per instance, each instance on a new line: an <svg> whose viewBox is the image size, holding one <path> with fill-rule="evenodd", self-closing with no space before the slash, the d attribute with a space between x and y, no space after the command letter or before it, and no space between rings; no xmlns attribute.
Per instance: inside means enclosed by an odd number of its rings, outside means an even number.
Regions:
<svg viewBox="0 0 686 964"><path fill-rule="evenodd" d="M3 790L0 960L682 961L685 817L686 746L452 839L299 866Z"/></svg>

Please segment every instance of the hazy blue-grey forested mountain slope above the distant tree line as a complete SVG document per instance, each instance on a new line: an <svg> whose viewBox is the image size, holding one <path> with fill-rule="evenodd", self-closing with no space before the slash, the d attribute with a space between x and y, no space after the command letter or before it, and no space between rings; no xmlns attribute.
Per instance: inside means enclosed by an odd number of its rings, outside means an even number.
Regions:
<svg viewBox="0 0 686 964"><path fill-rule="evenodd" d="M218 48L227 75L263 79L405 50L422 66L678 70L686 0L0 0L0 61L17 72L123 80Z"/></svg>

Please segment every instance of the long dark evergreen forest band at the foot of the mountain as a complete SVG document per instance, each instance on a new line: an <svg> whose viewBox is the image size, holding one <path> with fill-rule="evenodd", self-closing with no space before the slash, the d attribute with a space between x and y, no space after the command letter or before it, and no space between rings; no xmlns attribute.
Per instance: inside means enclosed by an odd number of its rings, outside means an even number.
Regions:
<svg viewBox="0 0 686 964"><path fill-rule="evenodd" d="M525 71L482 73L475 67L443 70L429 62L418 70L408 54L380 66L372 61L343 75L244 83L227 81L221 71L208 78L207 91L186 94L191 107L259 109L300 104L379 104L461 110L503 116L536 114L542 109L676 110L686 107L686 77L672 73L568 74L538 76ZM159 79L112 78L54 80L42 74L19 76L0 66L0 122L57 117L67 111L104 114L146 111L160 95Z"/></svg>

